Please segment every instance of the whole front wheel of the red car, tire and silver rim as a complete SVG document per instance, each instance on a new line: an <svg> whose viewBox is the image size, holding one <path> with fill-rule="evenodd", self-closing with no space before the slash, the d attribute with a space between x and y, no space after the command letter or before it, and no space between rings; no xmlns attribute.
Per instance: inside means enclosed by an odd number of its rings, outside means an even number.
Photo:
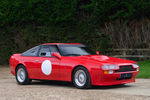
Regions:
<svg viewBox="0 0 150 100"><path fill-rule="evenodd" d="M88 89L91 87L91 77L88 70L84 67L77 67L73 71L73 84L79 89Z"/></svg>

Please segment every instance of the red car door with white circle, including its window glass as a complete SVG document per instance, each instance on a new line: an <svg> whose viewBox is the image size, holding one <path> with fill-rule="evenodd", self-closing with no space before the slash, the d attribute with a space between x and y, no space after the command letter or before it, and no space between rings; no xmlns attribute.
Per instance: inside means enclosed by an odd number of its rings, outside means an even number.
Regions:
<svg viewBox="0 0 150 100"><path fill-rule="evenodd" d="M38 79L59 80L60 59L53 57L52 52L58 52L56 46L42 45L38 53L37 65Z"/></svg>

